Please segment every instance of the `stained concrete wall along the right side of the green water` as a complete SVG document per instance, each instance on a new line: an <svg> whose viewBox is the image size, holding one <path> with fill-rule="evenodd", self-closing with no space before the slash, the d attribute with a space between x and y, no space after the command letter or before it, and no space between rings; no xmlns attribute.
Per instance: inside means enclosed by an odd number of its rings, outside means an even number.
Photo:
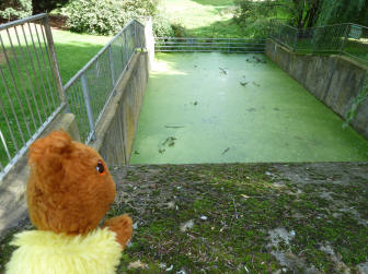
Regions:
<svg viewBox="0 0 368 274"><path fill-rule="evenodd" d="M342 56L298 55L273 39L266 43L266 55L344 119L361 91L368 70ZM352 127L368 139L368 99L358 107Z"/></svg>

